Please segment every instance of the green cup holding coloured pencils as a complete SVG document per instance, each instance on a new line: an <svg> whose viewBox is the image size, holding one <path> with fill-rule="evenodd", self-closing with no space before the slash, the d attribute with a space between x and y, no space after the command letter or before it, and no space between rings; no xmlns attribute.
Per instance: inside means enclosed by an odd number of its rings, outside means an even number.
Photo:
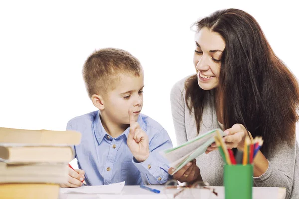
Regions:
<svg viewBox="0 0 299 199"><path fill-rule="evenodd" d="M252 199L253 165L225 165L225 199Z"/></svg>

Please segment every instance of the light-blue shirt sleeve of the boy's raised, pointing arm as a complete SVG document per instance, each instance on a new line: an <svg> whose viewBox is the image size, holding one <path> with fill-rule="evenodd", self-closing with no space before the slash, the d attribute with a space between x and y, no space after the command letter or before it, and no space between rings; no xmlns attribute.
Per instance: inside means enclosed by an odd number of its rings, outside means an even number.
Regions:
<svg viewBox="0 0 299 199"><path fill-rule="evenodd" d="M162 185L171 179L171 176L168 174L169 163L160 154L160 151L169 148L172 148L172 142L167 131L162 129L149 143L149 157L144 162L137 162L133 158L133 164L140 171L142 184Z"/></svg>

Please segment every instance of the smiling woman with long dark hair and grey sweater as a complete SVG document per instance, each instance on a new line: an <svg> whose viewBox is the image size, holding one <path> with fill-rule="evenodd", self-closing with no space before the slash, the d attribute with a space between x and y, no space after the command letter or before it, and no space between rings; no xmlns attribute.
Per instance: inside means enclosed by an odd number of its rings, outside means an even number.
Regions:
<svg viewBox="0 0 299 199"><path fill-rule="evenodd" d="M196 75L176 83L171 108L178 144L222 128L228 148L243 151L248 133L264 144L254 160L256 186L285 187L299 198L299 149L295 138L299 88L274 54L259 24L238 9L216 11L195 23ZM174 178L223 185L215 144ZM173 171L169 169L169 173Z"/></svg>

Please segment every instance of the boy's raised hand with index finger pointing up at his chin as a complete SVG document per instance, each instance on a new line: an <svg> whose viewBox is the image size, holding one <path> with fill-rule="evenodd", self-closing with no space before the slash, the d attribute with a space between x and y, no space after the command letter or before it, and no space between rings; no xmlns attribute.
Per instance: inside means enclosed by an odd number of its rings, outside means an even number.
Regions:
<svg viewBox="0 0 299 199"><path fill-rule="evenodd" d="M132 110L129 110L130 132L127 138L127 145L138 162L143 162L149 157L149 139L147 134L135 121Z"/></svg>

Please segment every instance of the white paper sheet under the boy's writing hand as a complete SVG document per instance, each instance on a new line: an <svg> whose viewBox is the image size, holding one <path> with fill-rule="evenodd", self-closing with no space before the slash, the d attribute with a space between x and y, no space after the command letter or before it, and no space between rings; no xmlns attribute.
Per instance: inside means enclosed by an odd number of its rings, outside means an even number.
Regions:
<svg viewBox="0 0 299 199"><path fill-rule="evenodd" d="M83 194L119 194L124 188L125 181L109 185L81 186L76 188L60 188L60 193L83 193Z"/></svg>

